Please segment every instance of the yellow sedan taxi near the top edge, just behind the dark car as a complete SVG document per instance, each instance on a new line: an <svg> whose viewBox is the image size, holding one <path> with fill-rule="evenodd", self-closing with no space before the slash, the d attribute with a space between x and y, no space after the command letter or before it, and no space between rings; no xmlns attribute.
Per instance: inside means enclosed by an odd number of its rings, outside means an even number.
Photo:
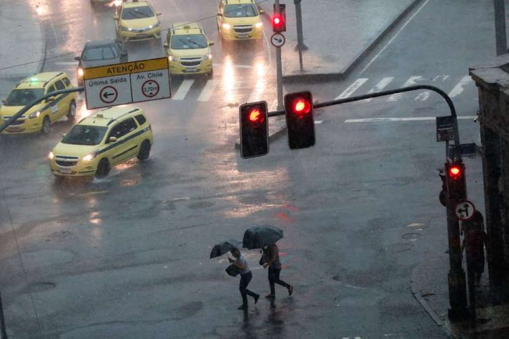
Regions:
<svg viewBox="0 0 509 339"><path fill-rule="evenodd" d="M117 37L122 41L159 39L161 23L148 1L123 3L115 10Z"/></svg>

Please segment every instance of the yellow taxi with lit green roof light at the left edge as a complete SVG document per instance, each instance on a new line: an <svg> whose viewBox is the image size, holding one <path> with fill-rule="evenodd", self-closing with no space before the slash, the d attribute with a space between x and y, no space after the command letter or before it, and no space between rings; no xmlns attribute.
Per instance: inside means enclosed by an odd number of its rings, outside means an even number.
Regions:
<svg viewBox="0 0 509 339"><path fill-rule="evenodd" d="M27 77L11 90L7 99L2 99L0 121L7 121L25 105L55 90L72 88L69 76L64 72L45 72ZM33 106L2 131L2 134L22 134L51 132L51 124L67 115L68 119L76 116L77 93L61 94L49 97Z"/></svg>

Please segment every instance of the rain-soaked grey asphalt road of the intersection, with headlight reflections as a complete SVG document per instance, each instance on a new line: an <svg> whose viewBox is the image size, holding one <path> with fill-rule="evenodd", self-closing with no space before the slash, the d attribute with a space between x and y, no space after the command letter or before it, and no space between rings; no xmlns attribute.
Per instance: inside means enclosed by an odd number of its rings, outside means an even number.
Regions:
<svg viewBox="0 0 509 339"><path fill-rule="evenodd" d="M86 40L114 37L109 8L92 9L77 0L26 3L44 28L45 71L74 76L74 54L52 57L80 51ZM216 2L205 0L152 4L163 12L163 26L216 12ZM465 44L457 34L468 24L461 24L464 13L453 12L458 32L445 25L436 15L444 13L444 6L432 1L362 73L381 49L342 82L288 88L310 88L325 100L359 78L368 80L355 94L366 93L369 84L384 77L394 77L391 86L396 87L410 76L422 76L452 90L468 66L482 63L486 55L468 52L455 63L445 61L457 56L458 46L451 44ZM441 29L433 41L447 48L427 42L422 27L430 20ZM70 122L56 124L48 137L2 138L0 288L9 333L48 338L443 337L409 287L412 269L426 260L426 243L442 242L447 249L436 174L444 152L435 141L434 121L345 120L446 115L446 105L432 96L416 101L415 94L324 109L317 112L322 122L314 148L290 151L284 137L271 144L268 156L242 160L234 150L238 105L263 99L274 107L273 56L266 41L223 46L215 20L202 24L216 42L214 78L172 79L174 95L192 82L182 100L137 105L146 110L155 135L147 163L130 161L105 179L60 183L45 157ZM477 28L462 34L477 41L487 33ZM129 58L164 55L161 45L130 44ZM432 48L433 63L423 55ZM442 75L448 77L436 78ZM210 96L206 87L213 88ZM465 87L455 104L458 114L475 115L475 86ZM81 107L78 114L89 112ZM462 142L475 141L478 127L472 120L461 121L460 127ZM469 194L479 196L480 160L467 160L467 169ZM482 199L474 201L482 205ZM250 300L243 314L236 309L238 279L224 273L227 261L208 257L214 243L241 239L247 227L258 224L285 231L279 244L281 278L295 291L288 297L276 287L273 304L260 300L254 306ZM249 287L265 294L259 256L247 252L254 275Z"/></svg>

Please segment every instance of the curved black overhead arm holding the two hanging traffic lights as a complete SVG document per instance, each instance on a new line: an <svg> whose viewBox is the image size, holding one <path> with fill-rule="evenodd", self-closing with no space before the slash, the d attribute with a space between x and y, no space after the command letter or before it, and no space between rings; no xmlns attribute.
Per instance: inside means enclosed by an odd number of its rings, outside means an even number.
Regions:
<svg viewBox="0 0 509 339"><path fill-rule="evenodd" d="M418 89L429 89L429 90L432 90L435 93L438 93L447 102L447 105L449 106L449 110L450 110L450 115L454 117L454 121L455 121L455 128L454 128L455 140L454 140L454 143L456 145L457 157L458 157L459 160L461 160L460 135L458 133L458 125L457 125L457 120L456 120L456 109L454 108L453 101L449 98L449 96L443 90L441 90L438 87L430 86L430 85L415 85L415 86L408 86L408 87L395 88L395 89L389 89L389 90L382 90L382 91L376 92L376 93L364 94L364 95L356 96L356 97L350 97L350 98L326 101L326 102L323 102L323 103L317 103L317 104L313 105L313 108L322 108L322 107L328 107L328 106L334 106L334 105L341 105L341 104L346 104L346 103L349 103L349 102L354 102L354 101L359 101L359 100L364 100L364 99L370 99L370 98L390 96L390 95L393 95L393 94L396 94L396 93L404 93L404 92L409 92L409 91L418 90ZM284 110L283 111L272 111L272 112L269 112L268 115L269 115L269 117L270 116L285 115L285 111Z"/></svg>

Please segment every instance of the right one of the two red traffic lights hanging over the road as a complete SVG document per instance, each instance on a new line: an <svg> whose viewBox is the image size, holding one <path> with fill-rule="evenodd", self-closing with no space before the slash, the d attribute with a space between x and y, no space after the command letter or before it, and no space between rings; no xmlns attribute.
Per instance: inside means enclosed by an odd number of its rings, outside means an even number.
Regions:
<svg viewBox="0 0 509 339"><path fill-rule="evenodd" d="M290 148L298 149L315 145L315 119L311 93L303 91L287 94L285 113Z"/></svg>

